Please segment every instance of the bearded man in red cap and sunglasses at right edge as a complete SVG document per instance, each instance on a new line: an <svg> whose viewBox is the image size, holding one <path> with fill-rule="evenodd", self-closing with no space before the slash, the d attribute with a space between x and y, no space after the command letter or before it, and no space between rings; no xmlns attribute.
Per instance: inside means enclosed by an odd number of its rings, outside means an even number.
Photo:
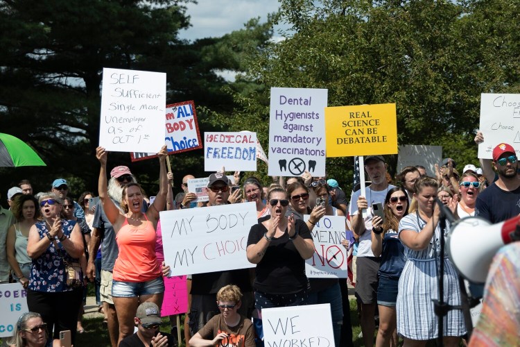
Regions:
<svg viewBox="0 0 520 347"><path fill-rule="evenodd" d="M499 179L478 194L475 216L499 223L520 214L517 152L510 144L499 144L493 150L493 165Z"/></svg>

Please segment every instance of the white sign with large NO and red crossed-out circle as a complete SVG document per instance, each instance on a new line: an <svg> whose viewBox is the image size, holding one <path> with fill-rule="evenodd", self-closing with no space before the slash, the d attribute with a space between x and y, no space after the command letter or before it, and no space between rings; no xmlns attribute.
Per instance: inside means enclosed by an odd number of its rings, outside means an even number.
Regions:
<svg viewBox="0 0 520 347"><path fill-rule="evenodd" d="M310 214L304 214L309 221ZM347 248L341 244L345 238L345 217L324 216L311 231L314 254L305 260L308 278L347 278Z"/></svg>

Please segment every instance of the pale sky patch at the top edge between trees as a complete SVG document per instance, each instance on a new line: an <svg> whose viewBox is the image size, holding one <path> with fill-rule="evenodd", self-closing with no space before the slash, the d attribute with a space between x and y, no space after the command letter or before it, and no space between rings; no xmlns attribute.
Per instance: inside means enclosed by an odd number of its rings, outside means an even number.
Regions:
<svg viewBox="0 0 520 347"><path fill-rule="evenodd" d="M202 37L218 37L243 28L254 17L267 19L276 12L278 0L197 0L189 3L187 14L191 16L191 28L180 32L180 37L195 40Z"/></svg>

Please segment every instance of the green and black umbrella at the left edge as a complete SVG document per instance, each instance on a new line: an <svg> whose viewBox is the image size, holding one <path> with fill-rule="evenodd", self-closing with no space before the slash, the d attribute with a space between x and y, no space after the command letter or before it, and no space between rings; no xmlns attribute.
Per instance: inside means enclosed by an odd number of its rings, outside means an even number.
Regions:
<svg viewBox="0 0 520 347"><path fill-rule="evenodd" d="M0 133L0 167L45 167L46 164L21 139Z"/></svg>

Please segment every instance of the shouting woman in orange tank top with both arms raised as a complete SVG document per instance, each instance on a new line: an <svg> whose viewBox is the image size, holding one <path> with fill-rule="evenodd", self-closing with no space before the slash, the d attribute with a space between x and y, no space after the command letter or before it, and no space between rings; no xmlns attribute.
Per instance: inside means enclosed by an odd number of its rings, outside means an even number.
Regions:
<svg viewBox="0 0 520 347"><path fill-rule="evenodd" d="M164 210L168 179L164 162L168 155L163 146L159 155L159 193L146 213L143 208L143 191L137 183L123 188L121 208L118 208L107 192L107 152L96 149L101 162L99 172L99 198L108 220L114 226L119 256L114 264L112 298L119 321L119 342L134 332L134 317L139 303L152 301L162 306L164 282L155 256L155 228L159 211Z"/></svg>

